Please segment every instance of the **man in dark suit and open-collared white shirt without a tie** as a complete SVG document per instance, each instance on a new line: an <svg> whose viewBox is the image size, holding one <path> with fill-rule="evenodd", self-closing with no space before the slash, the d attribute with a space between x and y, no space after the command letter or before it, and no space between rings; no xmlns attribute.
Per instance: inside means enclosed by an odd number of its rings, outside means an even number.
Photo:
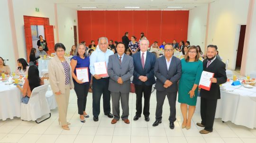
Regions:
<svg viewBox="0 0 256 143"><path fill-rule="evenodd" d="M174 129L176 120L176 98L178 90L178 80L182 74L181 60L174 57L174 47L172 44L165 45L165 56L158 58L155 62L155 89L156 89L156 110L155 122L153 126L162 123L163 104L167 95L170 105L170 128Z"/></svg>

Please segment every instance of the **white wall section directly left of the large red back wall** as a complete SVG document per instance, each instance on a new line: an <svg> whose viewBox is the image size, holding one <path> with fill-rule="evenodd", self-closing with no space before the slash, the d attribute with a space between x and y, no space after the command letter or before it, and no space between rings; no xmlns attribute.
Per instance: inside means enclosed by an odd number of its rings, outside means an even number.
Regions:
<svg viewBox="0 0 256 143"><path fill-rule="evenodd" d="M66 47L66 53L69 53L72 45L74 45L73 26L77 25L77 10L57 5L57 17L59 28L59 42L64 44L64 46Z"/></svg>

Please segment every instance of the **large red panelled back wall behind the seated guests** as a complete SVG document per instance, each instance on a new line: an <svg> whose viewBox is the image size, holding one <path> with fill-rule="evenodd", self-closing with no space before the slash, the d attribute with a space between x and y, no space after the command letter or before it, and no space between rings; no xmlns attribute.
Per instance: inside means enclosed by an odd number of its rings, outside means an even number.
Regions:
<svg viewBox="0 0 256 143"><path fill-rule="evenodd" d="M121 41L125 32L136 36L144 32L150 44L158 41L187 40L189 11L161 10L82 10L77 11L79 42L87 45L99 37Z"/></svg>

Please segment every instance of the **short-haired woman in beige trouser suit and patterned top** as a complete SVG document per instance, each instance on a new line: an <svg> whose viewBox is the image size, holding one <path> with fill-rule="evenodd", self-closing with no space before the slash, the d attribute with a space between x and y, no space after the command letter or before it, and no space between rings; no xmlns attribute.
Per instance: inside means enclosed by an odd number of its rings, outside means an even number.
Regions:
<svg viewBox="0 0 256 143"><path fill-rule="evenodd" d="M70 130L66 116L70 89L74 87L71 66L69 59L64 57L66 48L62 43L56 43L54 50L56 56L48 65L49 81L58 104L59 124L61 123L64 130Z"/></svg>

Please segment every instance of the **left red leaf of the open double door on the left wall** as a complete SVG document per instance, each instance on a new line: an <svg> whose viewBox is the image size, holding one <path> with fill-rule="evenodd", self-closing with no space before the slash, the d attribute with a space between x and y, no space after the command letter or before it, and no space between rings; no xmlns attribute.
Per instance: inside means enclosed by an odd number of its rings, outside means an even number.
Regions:
<svg viewBox="0 0 256 143"><path fill-rule="evenodd" d="M33 47L31 25L24 25L24 31L25 31L25 41L26 41L26 49L27 49L27 62L29 62L30 50Z"/></svg>

